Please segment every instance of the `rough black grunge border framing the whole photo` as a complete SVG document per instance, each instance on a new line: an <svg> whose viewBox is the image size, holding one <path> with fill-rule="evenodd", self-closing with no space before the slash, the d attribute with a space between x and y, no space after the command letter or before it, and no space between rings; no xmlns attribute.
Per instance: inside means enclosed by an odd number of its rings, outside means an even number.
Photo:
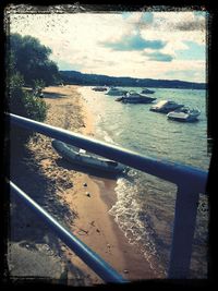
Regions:
<svg viewBox="0 0 218 291"><path fill-rule="evenodd" d="M107 3L106 3L107 2ZM209 3L210 2L210 3ZM43 13L46 13L46 8L47 5L61 5L61 4L65 4L65 9L64 11L59 10L58 8L56 8L55 13L64 13L69 11L72 12L82 12L82 13L86 13L86 12L95 12L95 13L101 13L101 12L108 12L108 13L112 13L112 12L121 12L121 11L146 11L147 9L152 9L153 10L206 10L209 13L208 16L208 22L207 22L207 85L208 85L208 89L207 89L207 114L208 114L208 123L207 123L207 135L208 135L208 147L211 148L213 150L213 157L211 157L211 161L210 161L210 168L209 168L209 178L208 178L208 184L207 184L207 191L209 193L209 208L210 208L210 220L209 220L209 231L210 231L210 235L209 235L209 277L208 280L160 280L160 281L155 281L155 282L150 282L150 281L146 281L146 282L141 282L141 283L133 283L131 284L132 287L136 287L136 286L144 286L145 287L166 287L166 289L169 288L186 288L186 287L197 287L197 288L205 288L210 286L210 283L215 282L215 277L216 277L216 256L217 256L217 239L215 235L215 219L216 219L216 209L215 209L215 205L217 202L217 198L214 197L215 193L213 193L214 189L213 189L213 182L214 182L214 178L215 178L215 172L217 171L217 135L216 135L216 128L217 128L217 121L216 121L216 95L217 95L217 11L216 11L216 7L213 5L214 3L211 3L213 1L206 1L206 0L198 0L198 1L192 1L192 0L184 0L184 1L179 1L179 3L175 0L171 0L171 1L157 1L157 0L147 0L147 1L104 1L102 4L99 3L88 3L88 2L84 2L84 1L80 1L80 2L75 2L75 1L19 1L19 0L14 0L12 1L12 3L14 4L29 4L33 5L34 9L32 11L28 11L28 13L37 13L37 11L40 11ZM215 1L214 1L215 2ZM4 175L9 177L9 161L10 161L10 157L8 155L7 149L4 148L4 137L7 135L8 129L9 129L9 124L5 123L4 120L4 110L5 110L5 32L4 32L4 9L5 7L8 7L10 4L9 1L7 0L2 0L0 3L0 20L1 20L1 68L3 68L2 70L2 83L1 83L1 118L2 118L2 122L1 125L3 125L3 131L1 131L1 154L2 154L2 158L1 158L1 166L3 171L1 171L1 179L2 179L2 192L3 195L1 195L1 215L2 215L2 219L1 221L3 221L3 226L1 228L2 233L1 233L1 238L4 238L3 241L1 241L1 247L2 247L2 259L1 262L3 262L3 269L1 269L1 282L3 283L3 286L7 287L31 287L31 284L36 284L37 287L39 287L40 283L37 283L35 281L33 282L28 282L27 284L11 284L9 281L9 277L7 276L7 262L5 262L5 254L7 254L7 238L8 238L8 223L9 223L9 189L8 185L5 184L4 181ZM215 95L216 93L216 95ZM3 97L3 98L2 98ZM211 195L213 194L213 195ZM50 287L50 286L48 286ZM65 287L60 287L60 286L52 286L52 288L65 288ZM104 287L107 288L107 287ZM110 288L110 287L109 287ZM112 286L112 288L116 288L114 286ZM110 288L111 289L111 288Z"/></svg>

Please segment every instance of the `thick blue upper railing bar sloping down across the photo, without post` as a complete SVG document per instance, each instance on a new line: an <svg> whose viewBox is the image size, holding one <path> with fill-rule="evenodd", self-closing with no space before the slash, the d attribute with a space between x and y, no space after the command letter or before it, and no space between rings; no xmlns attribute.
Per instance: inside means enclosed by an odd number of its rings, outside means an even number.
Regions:
<svg viewBox="0 0 218 291"><path fill-rule="evenodd" d="M99 156L113 159L174 184L183 185L189 181L190 187L195 189L196 192L206 194L207 171L202 169L150 158L116 145L108 145L107 143L97 141L93 137L83 136L78 133L72 133L60 128L55 128L12 113L7 113L7 117L10 118L10 121L13 124L36 131L66 144L84 148Z"/></svg>

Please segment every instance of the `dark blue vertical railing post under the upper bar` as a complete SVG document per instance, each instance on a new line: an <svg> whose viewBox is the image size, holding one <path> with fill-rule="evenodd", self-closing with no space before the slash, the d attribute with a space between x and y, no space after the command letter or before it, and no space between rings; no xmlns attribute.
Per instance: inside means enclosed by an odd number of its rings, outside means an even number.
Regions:
<svg viewBox="0 0 218 291"><path fill-rule="evenodd" d="M178 185L174 226L170 253L169 279L184 279L190 272L199 194L189 185Z"/></svg>

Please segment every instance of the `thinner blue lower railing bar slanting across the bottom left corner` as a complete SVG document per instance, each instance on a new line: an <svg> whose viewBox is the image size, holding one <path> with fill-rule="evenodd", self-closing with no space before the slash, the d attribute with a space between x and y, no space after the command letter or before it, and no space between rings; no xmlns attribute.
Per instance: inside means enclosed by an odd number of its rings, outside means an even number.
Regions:
<svg viewBox="0 0 218 291"><path fill-rule="evenodd" d="M126 283L129 282L118 274L108 263L99 257L86 244L84 244L74 234L63 228L55 218L52 218L41 206L32 199L26 193L17 187L12 181L9 181L11 189L20 198L31 207L55 232L56 234L90 267L105 282Z"/></svg>

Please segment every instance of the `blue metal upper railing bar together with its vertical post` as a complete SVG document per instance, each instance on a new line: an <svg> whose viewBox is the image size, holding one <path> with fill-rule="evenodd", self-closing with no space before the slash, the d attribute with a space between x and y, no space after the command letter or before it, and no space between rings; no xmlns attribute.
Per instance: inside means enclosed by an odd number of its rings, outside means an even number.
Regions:
<svg viewBox="0 0 218 291"><path fill-rule="evenodd" d="M7 113L7 117L11 124L84 148L177 184L178 193L168 278L183 279L189 277L198 194L206 194L207 171L146 157L122 147L108 145L92 137L85 137L82 134L72 133L15 114ZM89 256L88 254L86 255ZM93 270L96 271L95 267L93 267ZM101 272L97 274L100 277L102 275Z"/></svg>

